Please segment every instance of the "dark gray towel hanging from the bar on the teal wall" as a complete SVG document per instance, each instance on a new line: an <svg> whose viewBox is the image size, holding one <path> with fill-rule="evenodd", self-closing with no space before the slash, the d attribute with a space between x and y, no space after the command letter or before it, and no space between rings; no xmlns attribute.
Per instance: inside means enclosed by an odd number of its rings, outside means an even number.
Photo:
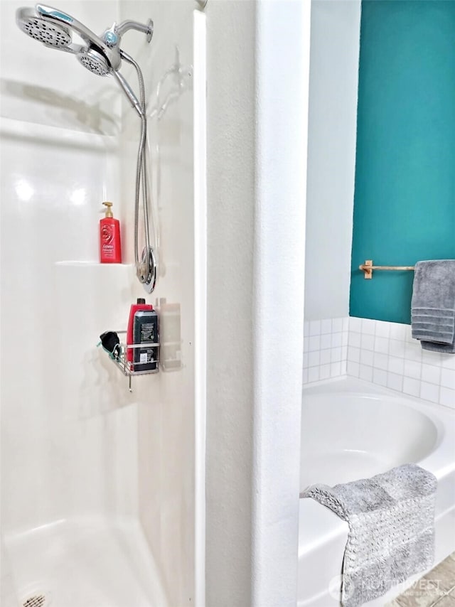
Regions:
<svg viewBox="0 0 455 607"><path fill-rule="evenodd" d="M415 264L411 314L424 350L455 352L455 259Z"/></svg>

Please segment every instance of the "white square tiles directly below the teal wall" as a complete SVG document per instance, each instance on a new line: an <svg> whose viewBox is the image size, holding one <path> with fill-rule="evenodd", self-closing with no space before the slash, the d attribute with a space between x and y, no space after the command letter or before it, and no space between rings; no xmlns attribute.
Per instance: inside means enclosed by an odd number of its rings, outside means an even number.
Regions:
<svg viewBox="0 0 455 607"><path fill-rule="evenodd" d="M410 325L351 317L347 375L455 409L455 355L422 350Z"/></svg>

